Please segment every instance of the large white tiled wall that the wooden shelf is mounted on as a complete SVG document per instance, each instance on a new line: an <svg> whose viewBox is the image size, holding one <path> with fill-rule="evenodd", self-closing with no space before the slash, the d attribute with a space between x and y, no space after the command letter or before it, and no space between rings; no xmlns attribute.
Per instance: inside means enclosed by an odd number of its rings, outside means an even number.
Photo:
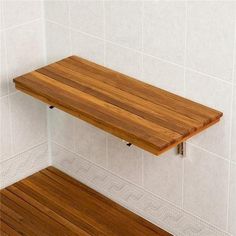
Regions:
<svg viewBox="0 0 236 236"><path fill-rule="evenodd" d="M46 13L49 61L68 55L69 48L69 54L224 112L219 124L188 142L186 159L175 150L156 158L129 148L57 110L51 112L51 123L60 124L60 130L52 127L52 141L74 153L73 158L79 155L94 168L105 168L146 194L236 235L236 2L53 1L46 4ZM61 150L55 145L53 149ZM65 164L58 164L57 155L53 162L60 168ZM72 168L69 162L65 165ZM73 165L78 175L85 170L91 173L87 164L77 170ZM184 235L211 235L193 232Z"/></svg>

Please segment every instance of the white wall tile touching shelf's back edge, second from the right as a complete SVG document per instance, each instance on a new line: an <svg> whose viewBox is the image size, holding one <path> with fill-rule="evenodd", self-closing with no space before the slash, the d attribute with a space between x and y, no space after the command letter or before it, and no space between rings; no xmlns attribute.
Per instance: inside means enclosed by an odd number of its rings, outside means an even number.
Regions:
<svg viewBox="0 0 236 236"><path fill-rule="evenodd" d="M169 92L184 93L184 69L150 56L143 57L143 80Z"/></svg>

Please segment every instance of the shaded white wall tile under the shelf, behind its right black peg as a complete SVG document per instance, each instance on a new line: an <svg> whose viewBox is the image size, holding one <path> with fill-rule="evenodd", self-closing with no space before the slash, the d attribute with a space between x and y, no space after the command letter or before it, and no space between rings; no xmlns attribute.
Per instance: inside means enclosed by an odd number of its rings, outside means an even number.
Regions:
<svg viewBox="0 0 236 236"><path fill-rule="evenodd" d="M108 135L108 169L135 183L142 183L142 150L128 147L115 136Z"/></svg>

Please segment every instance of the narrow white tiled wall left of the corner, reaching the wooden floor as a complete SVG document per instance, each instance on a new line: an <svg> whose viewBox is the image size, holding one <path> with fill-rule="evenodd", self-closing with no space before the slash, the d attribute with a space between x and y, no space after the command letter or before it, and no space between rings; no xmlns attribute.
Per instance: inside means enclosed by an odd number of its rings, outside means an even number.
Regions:
<svg viewBox="0 0 236 236"><path fill-rule="evenodd" d="M0 188L49 164L46 106L12 79L45 63L41 1L0 1Z"/></svg>

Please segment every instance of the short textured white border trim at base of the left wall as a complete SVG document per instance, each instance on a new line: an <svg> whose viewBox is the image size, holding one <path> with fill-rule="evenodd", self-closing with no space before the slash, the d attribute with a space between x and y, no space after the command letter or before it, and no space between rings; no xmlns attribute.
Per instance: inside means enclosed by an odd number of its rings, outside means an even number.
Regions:
<svg viewBox="0 0 236 236"><path fill-rule="evenodd" d="M49 166L47 143L4 161L0 166L0 188L26 178Z"/></svg>

